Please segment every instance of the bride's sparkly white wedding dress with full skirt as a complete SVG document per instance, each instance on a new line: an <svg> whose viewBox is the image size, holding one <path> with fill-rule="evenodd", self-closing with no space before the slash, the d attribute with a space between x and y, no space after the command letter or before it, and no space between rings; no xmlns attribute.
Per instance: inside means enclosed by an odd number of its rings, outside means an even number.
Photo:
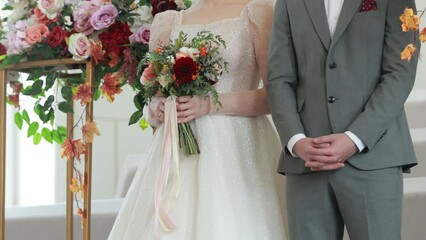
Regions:
<svg viewBox="0 0 426 240"><path fill-rule="evenodd" d="M163 38L173 39L184 31L191 39L200 30L220 34L227 44L222 54L229 73L217 83L218 92L252 90L261 75L255 46L267 48L262 29L270 30L272 9L271 1L254 0L238 17L205 25L182 25L180 12L167 11L156 16L153 29L161 31L152 37L165 34ZM260 30L257 36L253 28ZM267 50L262 51L266 58ZM247 106L236 101L234 107L238 111ZM207 115L191 125L201 153L180 156L180 194L168 210L177 230L161 230L161 239L285 240L284 179L276 173L281 144L267 116ZM141 160L147 167L137 171L109 240L155 239L154 191L162 136L160 126Z"/></svg>

